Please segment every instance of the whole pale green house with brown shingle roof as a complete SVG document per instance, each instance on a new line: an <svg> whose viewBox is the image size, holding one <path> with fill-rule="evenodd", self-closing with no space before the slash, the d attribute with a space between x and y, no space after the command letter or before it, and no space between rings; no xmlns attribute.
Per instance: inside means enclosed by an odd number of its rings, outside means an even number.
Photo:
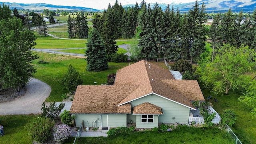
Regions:
<svg viewBox="0 0 256 144"><path fill-rule="evenodd" d="M175 80L169 70L141 60L117 70L113 86L78 86L70 108L76 127L154 128L188 124L192 101L205 102L197 80Z"/></svg>

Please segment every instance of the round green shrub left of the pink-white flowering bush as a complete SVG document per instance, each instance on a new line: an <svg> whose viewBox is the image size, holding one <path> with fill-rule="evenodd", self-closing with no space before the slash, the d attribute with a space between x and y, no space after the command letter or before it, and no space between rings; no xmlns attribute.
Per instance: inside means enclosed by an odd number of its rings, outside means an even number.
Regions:
<svg viewBox="0 0 256 144"><path fill-rule="evenodd" d="M31 120L26 126L28 129L28 136L32 137L36 142L45 142L52 136L52 128L54 122L50 118L38 117Z"/></svg>

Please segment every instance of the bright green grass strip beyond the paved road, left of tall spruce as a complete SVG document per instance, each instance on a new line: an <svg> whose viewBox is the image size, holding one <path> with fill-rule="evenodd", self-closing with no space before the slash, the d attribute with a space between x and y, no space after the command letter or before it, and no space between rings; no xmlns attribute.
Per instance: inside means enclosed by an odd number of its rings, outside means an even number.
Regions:
<svg viewBox="0 0 256 144"><path fill-rule="evenodd" d="M51 36L38 37L35 48L53 49L53 48L84 48L87 40L66 40L53 38Z"/></svg>

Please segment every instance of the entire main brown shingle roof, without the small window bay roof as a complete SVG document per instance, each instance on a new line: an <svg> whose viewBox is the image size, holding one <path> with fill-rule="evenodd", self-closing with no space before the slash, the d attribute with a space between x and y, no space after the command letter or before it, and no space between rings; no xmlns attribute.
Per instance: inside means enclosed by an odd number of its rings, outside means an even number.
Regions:
<svg viewBox="0 0 256 144"><path fill-rule="evenodd" d="M204 100L196 80L174 80L169 70L141 60L118 70L114 86L78 86L70 114L130 114L129 102L151 93L190 108L191 100Z"/></svg>

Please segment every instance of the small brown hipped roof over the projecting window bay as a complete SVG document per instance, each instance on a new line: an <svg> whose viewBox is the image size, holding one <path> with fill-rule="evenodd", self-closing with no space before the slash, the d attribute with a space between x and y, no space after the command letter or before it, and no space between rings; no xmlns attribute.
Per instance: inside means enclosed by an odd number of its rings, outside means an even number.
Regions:
<svg viewBox="0 0 256 144"><path fill-rule="evenodd" d="M163 114L159 106L145 102L133 107L132 114Z"/></svg>

